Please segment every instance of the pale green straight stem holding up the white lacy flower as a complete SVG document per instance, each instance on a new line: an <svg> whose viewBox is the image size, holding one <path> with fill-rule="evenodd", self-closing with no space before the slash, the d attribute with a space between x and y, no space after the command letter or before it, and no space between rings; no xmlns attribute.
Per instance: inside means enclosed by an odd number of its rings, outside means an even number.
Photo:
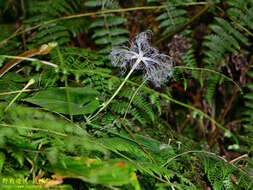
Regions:
<svg viewBox="0 0 253 190"><path fill-rule="evenodd" d="M111 98L107 102L104 102L102 104L102 107L96 112L95 115L93 115L91 117L88 117L88 122L90 122L92 119L94 119L101 111L103 111L108 106L108 104L111 103L111 101L115 98L115 96L119 93L119 91L121 90L121 88L127 82L127 80L129 79L130 75L136 69L136 67L138 66L138 64L141 62L141 60L142 60L142 57L138 57L138 59L136 60L136 62L134 63L133 67L131 68L131 70L129 71L129 73L127 74L126 78L123 80L123 82L120 84L120 86L118 87L118 89L114 92L114 94L111 96Z"/></svg>

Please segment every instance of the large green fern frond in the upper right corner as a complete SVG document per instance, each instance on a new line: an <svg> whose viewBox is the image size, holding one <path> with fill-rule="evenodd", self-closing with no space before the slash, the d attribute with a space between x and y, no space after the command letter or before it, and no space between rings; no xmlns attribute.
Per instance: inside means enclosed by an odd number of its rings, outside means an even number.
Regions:
<svg viewBox="0 0 253 190"><path fill-rule="evenodd" d="M231 0L228 3L236 7L231 7L227 10L227 13L231 17L237 15L237 17L235 16L235 20L241 20L240 15L245 15L246 18L251 17L250 14L247 15L246 12L244 14L242 13L243 9L248 6L247 1L240 3L238 1ZM237 13L241 11L240 14L236 14L235 10L237 10ZM204 45L208 48L208 50L204 51L204 54L206 55L204 61L208 63L209 66L217 66L221 63L222 66L224 66L223 60L226 55L225 53L238 52L240 50L240 44L249 46L250 43L248 42L247 36L242 33L242 29L236 26L236 23L229 23L220 17L215 17L215 21L215 24L209 26L214 34L205 37L207 41ZM247 23L249 24L250 22L250 19L247 19Z"/></svg>

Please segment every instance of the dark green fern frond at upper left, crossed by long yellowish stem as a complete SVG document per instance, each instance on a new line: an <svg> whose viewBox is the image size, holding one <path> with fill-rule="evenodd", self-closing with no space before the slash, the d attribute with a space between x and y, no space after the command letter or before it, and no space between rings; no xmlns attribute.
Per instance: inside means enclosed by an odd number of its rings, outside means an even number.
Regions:
<svg viewBox="0 0 253 190"><path fill-rule="evenodd" d="M24 23L29 27L63 15L74 14L78 10L79 4L79 0L34 1L33 4L29 4L30 7L27 8L27 14L29 16ZM34 48L34 46L37 47L52 41L56 41L59 45L70 42L71 32L74 33L76 31L73 31L73 27L69 29L68 24L71 26L69 21L60 21L41 26L35 35L28 39L28 47Z"/></svg>

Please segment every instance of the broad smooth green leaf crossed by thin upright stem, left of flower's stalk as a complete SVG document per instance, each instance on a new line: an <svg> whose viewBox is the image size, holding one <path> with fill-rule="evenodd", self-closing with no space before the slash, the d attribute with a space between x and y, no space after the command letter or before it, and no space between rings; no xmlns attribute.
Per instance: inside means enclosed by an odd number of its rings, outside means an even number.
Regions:
<svg viewBox="0 0 253 190"><path fill-rule="evenodd" d="M70 105L73 115L92 113L99 107L96 90L88 87L68 88L70 102L68 102L66 90L66 88L42 90L25 101L63 114L69 114Z"/></svg>

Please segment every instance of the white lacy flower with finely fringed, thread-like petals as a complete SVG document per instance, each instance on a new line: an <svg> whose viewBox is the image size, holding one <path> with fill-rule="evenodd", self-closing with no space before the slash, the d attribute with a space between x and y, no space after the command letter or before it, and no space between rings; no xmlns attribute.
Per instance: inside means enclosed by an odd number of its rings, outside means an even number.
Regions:
<svg viewBox="0 0 253 190"><path fill-rule="evenodd" d="M150 45L151 36L152 31L147 30L135 36L130 42L130 47L113 48L110 59L114 66L121 68L122 73L125 73L128 65L132 69L143 70L144 80L151 81L159 87L172 76L173 63L170 56L159 53ZM135 65L138 59L139 63Z"/></svg>

